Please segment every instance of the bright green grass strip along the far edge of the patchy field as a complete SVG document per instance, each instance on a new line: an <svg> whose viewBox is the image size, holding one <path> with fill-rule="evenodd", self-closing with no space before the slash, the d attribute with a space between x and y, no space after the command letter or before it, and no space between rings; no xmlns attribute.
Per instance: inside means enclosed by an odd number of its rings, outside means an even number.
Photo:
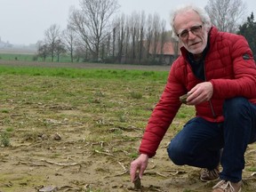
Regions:
<svg viewBox="0 0 256 192"><path fill-rule="evenodd" d="M68 78L116 79L118 81L166 82L167 71L143 71L126 69L81 69L81 68L32 68L0 66L1 75L59 76Z"/></svg>

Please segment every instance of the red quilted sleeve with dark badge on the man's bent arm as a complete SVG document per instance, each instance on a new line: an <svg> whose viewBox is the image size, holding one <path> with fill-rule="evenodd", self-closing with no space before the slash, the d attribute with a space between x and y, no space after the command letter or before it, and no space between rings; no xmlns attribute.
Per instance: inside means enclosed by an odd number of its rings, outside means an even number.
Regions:
<svg viewBox="0 0 256 192"><path fill-rule="evenodd" d="M233 35L229 42L230 49L226 54L231 55L233 79L212 79L213 96L228 99L243 96L247 99L256 97L256 66L252 51L244 36Z"/></svg>

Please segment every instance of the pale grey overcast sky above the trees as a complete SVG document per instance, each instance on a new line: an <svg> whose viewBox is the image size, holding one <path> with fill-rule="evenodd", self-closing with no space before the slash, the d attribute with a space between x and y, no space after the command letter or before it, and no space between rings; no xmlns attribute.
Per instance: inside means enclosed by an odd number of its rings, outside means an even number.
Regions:
<svg viewBox="0 0 256 192"><path fill-rule="evenodd" d="M0 0L0 37L11 44L36 44L44 39L44 31L52 24L66 28L71 6L79 8L80 0ZM204 7L208 0L117 0L119 12L134 11L158 13L169 25L170 11L180 4L193 3ZM245 16L256 15L256 1L244 0L247 4ZM169 26L168 26L169 27Z"/></svg>

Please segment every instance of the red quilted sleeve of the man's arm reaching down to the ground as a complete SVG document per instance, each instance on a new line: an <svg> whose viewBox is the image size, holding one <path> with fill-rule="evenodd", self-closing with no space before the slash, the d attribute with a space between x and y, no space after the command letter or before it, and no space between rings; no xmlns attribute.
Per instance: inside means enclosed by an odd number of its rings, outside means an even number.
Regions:
<svg viewBox="0 0 256 192"><path fill-rule="evenodd" d="M156 155L156 149L180 108L179 97L186 91L175 77L176 70L177 68L173 63L161 99L156 104L156 108L148 120L148 125L140 144L140 154L147 154L149 157Z"/></svg>

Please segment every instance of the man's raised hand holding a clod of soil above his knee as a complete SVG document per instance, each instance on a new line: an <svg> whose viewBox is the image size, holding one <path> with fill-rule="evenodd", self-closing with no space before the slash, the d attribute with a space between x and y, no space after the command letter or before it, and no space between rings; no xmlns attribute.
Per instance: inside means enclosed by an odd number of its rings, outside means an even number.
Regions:
<svg viewBox="0 0 256 192"><path fill-rule="evenodd" d="M187 104L197 105L204 101L209 101L212 98L212 94L213 87L210 82L196 84L196 86L188 92Z"/></svg>

